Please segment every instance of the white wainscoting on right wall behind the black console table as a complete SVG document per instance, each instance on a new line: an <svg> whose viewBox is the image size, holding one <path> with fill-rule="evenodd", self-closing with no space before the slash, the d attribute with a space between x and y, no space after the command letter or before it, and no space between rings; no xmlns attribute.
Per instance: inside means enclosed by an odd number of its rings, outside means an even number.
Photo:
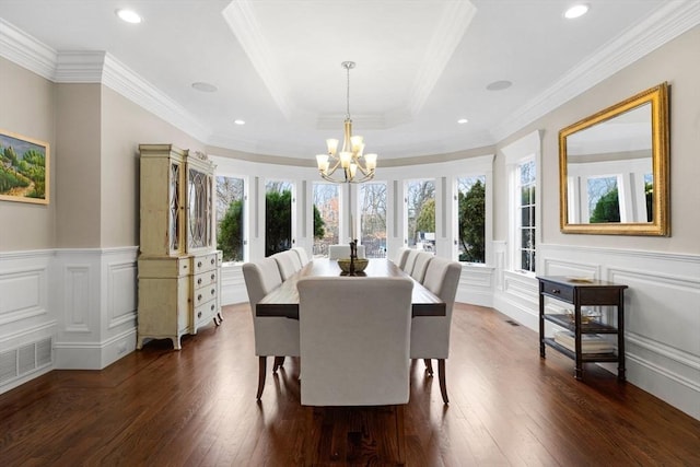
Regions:
<svg viewBox="0 0 700 467"><path fill-rule="evenodd" d="M542 276L587 276L629 287L628 381L700 419L700 256L542 244L538 256ZM537 290L535 303L536 296Z"/></svg>

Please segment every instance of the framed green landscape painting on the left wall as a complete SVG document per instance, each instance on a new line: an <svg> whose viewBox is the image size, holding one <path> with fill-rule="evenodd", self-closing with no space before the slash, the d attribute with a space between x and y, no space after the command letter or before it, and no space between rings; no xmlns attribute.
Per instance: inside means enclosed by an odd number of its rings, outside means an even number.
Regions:
<svg viewBox="0 0 700 467"><path fill-rule="evenodd" d="M48 143L0 129L0 200L48 205Z"/></svg>

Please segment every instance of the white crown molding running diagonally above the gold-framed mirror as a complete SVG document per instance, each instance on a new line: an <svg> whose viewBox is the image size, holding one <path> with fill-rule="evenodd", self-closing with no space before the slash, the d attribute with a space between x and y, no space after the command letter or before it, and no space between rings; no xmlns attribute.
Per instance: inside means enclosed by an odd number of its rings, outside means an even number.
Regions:
<svg viewBox="0 0 700 467"><path fill-rule="evenodd" d="M546 92L513 112L491 131L493 139L504 140L698 24L700 2L697 0L665 3L654 14L569 70Z"/></svg>

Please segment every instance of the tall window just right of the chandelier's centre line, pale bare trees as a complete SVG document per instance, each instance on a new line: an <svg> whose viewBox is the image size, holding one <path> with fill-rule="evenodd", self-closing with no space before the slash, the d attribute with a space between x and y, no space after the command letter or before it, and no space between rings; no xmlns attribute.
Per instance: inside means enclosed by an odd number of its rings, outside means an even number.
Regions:
<svg viewBox="0 0 700 467"><path fill-rule="evenodd" d="M360 243L368 258L386 258L386 184L360 186Z"/></svg>

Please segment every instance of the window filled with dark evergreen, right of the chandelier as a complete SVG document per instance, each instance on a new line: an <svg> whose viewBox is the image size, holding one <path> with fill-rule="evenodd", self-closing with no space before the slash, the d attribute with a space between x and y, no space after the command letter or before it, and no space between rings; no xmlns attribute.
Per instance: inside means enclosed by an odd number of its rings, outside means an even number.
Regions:
<svg viewBox="0 0 700 467"><path fill-rule="evenodd" d="M457 178L459 260L486 262L486 175Z"/></svg>

